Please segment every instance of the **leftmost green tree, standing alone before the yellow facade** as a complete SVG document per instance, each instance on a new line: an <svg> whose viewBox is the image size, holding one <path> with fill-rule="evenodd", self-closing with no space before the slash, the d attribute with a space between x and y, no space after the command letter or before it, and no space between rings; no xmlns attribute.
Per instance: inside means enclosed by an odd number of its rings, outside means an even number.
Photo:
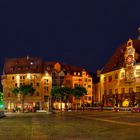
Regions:
<svg viewBox="0 0 140 140"><path fill-rule="evenodd" d="M12 92L15 95L19 95L21 100L21 110L24 112L24 99L26 95L33 95L35 92L35 89L32 87L32 85L21 85L20 87L15 87Z"/></svg>

